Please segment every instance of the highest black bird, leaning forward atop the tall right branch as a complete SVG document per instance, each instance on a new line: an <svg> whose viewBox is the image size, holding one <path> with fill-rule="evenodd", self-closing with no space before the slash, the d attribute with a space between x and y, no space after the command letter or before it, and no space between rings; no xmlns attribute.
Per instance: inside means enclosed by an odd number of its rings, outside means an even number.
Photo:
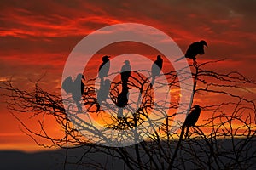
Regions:
<svg viewBox="0 0 256 170"><path fill-rule="evenodd" d="M181 60L181 59L184 59L184 58L189 58L189 59L196 59L195 56L198 55L198 54L205 54L205 51L204 51L204 46L208 47L207 46L207 42L204 41L204 40L201 40L200 42L193 42L189 45L189 48L187 49L186 51L186 54L185 56L179 58L179 59L176 59L175 62Z"/></svg>

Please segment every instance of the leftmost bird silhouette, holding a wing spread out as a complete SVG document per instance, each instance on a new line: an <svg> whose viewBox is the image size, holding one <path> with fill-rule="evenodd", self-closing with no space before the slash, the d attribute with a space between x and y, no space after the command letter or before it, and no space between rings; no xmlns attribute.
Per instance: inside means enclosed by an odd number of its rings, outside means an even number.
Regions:
<svg viewBox="0 0 256 170"><path fill-rule="evenodd" d="M72 81L72 77L67 77L62 82L62 88L67 94L72 94L73 101L76 103L79 112L82 112L80 101L85 87L83 80L85 80L84 75L79 74L74 81Z"/></svg>

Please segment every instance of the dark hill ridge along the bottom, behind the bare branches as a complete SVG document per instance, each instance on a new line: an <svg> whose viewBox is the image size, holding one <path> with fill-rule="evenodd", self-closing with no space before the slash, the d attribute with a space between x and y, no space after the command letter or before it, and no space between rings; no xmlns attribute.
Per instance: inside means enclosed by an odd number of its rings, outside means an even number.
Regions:
<svg viewBox="0 0 256 170"><path fill-rule="evenodd" d="M221 139L219 139L221 140ZM234 142L236 144L239 144L243 139L236 139ZM200 142L200 141L199 141ZM225 139L223 141L218 141L219 143L223 144L219 146L219 150L225 152L228 150L232 150L231 146L231 140ZM244 155L241 155L241 157L248 157L250 159L251 167L241 167L242 169L256 169L256 147L253 147L253 144L256 143L256 139L253 139L252 147ZM146 144L148 145L148 144ZM175 145L175 144L173 144ZM162 146L165 146L163 143ZM157 147L157 145L155 145ZM189 145L189 140L183 142L183 150L179 151L177 154L177 161L175 162L173 169L198 169L199 167L196 167L195 165L191 164L191 161L189 159L196 159L192 155L189 155L186 153L186 148L189 149L191 145ZM193 149L197 152L197 156L200 156L200 152L202 151L200 146L192 146ZM207 146L206 146L207 147ZM164 147L167 148L167 147ZM128 167L125 167L125 163L118 158L118 153L113 153L113 156L109 156L106 154L108 152L108 148L103 149L102 147L93 147L85 156L84 153L90 149L90 146L83 146L83 148L76 148L76 149L61 149L61 150L51 150L51 151L39 151L35 153L26 153L21 151L13 151L13 150L6 150L6 151L0 151L0 169L1 170L15 170L15 169L21 169L21 170L30 170L30 169L38 169L38 170L54 170L54 169L65 169L73 170L73 169L129 169ZM131 155L134 153L134 146L129 146L125 148L128 152L131 153ZM154 148L152 148L154 150ZM67 157L66 157L66 151L67 151ZM168 150L166 150L168 151ZM234 167L236 169L236 165L232 165L232 161L230 159L225 158L227 157L234 157L235 153L233 154L228 153L227 155L224 155L221 157L222 161L224 162L223 165L221 165L221 168L229 168ZM66 159L67 158L67 159ZM81 159L82 158L82 159ZM143 160L143 153L141 157ZM204 162L207 159L204 157L201 157L201 162ZM232 159L232 158L231 158ZM184 164L181 164L178 160L187 160ZM166 163L166 162L164 162ZM242 162L241 162L242 164ZM234 169L233 168L233 169ZM148 167L150 169L150 167ZM212 169L217 169L216 163L212 162Z"/></svg>

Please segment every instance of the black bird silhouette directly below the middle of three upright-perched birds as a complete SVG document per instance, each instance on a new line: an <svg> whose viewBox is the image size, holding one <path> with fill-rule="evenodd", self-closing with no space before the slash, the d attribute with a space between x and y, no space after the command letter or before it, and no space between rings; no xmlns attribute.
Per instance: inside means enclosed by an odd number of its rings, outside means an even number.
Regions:
<svg viewBox="0 0 256 170"><path fill-rule="evenodd" d="M127 87L123 88L122 92L118 95L117 103L116 103L116 105L119 106L119 111L117 115L118 118L123 117L123 107L128 105L129 89L130 88L127 88Z"/></svg>

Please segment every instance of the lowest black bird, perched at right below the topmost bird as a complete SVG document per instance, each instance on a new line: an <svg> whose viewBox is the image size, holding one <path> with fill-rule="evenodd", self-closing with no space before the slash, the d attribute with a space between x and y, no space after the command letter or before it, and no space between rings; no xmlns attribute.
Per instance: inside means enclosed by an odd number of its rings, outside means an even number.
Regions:
<svg viewBox="0 0 256 170"><path fill-rule="evenodd" d="M200 113L201 113L200 106L199 105L195 105L191 109L189 115L186 117L186 120L185 120L185 122L183 124L184 127L187 127L187 132L186 132L185 138L189 134L189 127L194 127L195 126L195 123L198 121Z"/></svg>

